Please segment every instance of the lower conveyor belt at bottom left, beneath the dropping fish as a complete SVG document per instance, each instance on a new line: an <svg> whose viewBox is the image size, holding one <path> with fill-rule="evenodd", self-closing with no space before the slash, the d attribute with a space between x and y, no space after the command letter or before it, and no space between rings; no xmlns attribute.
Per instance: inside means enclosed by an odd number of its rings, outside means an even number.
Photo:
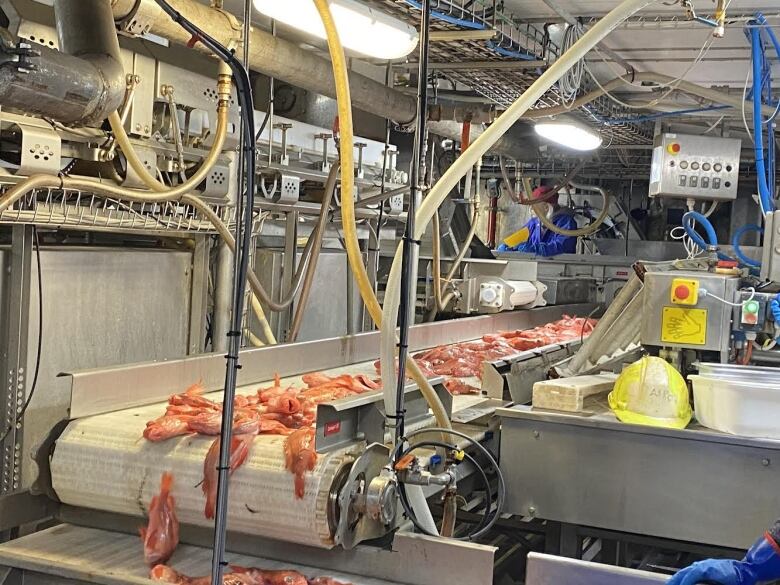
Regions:
<svg viewBox="0 0 780 585"><path fill-rule="evenodd" d="M208 575L211 554L211 549L181 545L169 564L189 576ZM245 567L293 569L309 578L327 576L352 585L398 585L259 557L228 554L227 560ZM0 566L101 585L149 585L149 568L143 563L140 538L70 524L61 524L0 545Z"/></svg>

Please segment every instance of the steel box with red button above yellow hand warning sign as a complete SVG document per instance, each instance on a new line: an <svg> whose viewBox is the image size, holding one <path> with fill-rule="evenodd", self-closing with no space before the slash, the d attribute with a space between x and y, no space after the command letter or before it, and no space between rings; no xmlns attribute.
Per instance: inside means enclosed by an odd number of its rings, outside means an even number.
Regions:
<svg viewBox="0 0 780 585"><path fill-rule="evenodd" d="M711 272L645 275L641 342L645 346L728 351L739 278ZM727 302L724 302L727 301Z"/></svg>

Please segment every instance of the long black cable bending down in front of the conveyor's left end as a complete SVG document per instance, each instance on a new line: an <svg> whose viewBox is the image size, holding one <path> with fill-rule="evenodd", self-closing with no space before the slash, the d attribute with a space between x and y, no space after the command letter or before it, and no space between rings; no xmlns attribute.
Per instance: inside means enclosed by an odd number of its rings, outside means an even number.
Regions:
<svg viewBox="0 0 780 585"><path fill-rule="evenodd" d="M244 129L243 157L244 177L239 177L239 184L246 186L244 196L243 237L236 239L236 266L233 276L233 305L231 331L228 333L228 353L225 371L225 390L222 409L222 427L219 449L219 479L217 482L217 508L214 521L214 553L212 557L212 585L222 585L222 576L227 566L225 562L225 539L227 528L227 498L228 498L228 471L230 465L230 445L233 435L233 400L236 394L236 381L239 363L239 351L241 349L241 325L244 314L244 297L249 271L250 239L255 199L255 144L251 138L255 135L254 103L252 96L252 83L249 71L235 56L235 51L229 50L213 37L200 30L197 26L184 18L178 11L165 0L155 0L160 8L171 17L179 26L190 33L193 39L203 43L209 50L224 61L233 73L233 79L238 92L238 103L241 109L241 121ZM247 0L246 11L251 10L251 3ZM249 26L249 23L245 23ZM239 216L240 219L240 216ZM237 221L238 235L241 235L241 222Z"/></svg>

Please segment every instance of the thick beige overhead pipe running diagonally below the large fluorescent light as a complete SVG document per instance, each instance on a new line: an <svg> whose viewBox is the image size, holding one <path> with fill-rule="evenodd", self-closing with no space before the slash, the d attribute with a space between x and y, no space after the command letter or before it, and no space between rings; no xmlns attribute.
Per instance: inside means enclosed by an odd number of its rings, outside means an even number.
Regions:
<svg viewBox="0 0 780 585"><path fill-rule="evenodd" d="M153 0L140 0L142 7L153 3ZM126 18L136 9L136 4L136 0L112 0L114 17L117 20ZM222 44L235 46L240 42L241 22L231 14L200 4L197 0L170 0L169 4ZM155 19L149 32L181 45L187 45L192 40L186 31L166 18ZM259 27L252 28L250 40L249 64L254 71L302 89L336 97L336 83L327 59ZM194 48L210 54L201 43L196 43ZM399 124L414 122L417 115L414 97L355 72L350 73L349 79L355 108Z"/></svg>

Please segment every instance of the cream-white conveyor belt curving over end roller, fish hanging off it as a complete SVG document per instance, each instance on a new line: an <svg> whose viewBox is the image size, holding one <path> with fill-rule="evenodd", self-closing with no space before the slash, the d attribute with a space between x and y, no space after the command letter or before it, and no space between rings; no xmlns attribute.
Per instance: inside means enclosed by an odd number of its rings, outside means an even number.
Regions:
<svg viewBox="0 0 780 585"><path fill-rule="evenodd" d="M151 443L146 422L165 411L155 404L72 421L51 459L52 485L65 504L143 517L159 492L164 471L173 474L179 521L213 526L204 515L200 487L203 462L215 437L177 437ZM231 531L330 548L328 494L346 451L320 455L306 473L306 493L297 499L294 476L285 469L284 437L259 436L249 457L230 479ZM139 525L141 522L139 522Z"/></svg>

